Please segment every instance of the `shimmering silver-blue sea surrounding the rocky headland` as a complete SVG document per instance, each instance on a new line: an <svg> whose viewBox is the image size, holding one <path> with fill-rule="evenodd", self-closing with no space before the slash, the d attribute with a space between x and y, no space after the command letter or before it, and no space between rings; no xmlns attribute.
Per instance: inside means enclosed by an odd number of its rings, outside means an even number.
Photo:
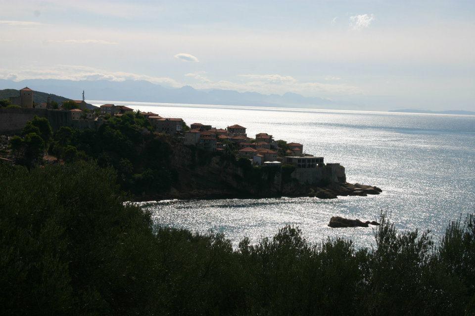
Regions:
<svg viewBox="0 0 475 316"><path fill-rule="evenodd" d="M109 101L90 101L93 104ZM348 237L370 246L371 228L331 229L334 215L378 219L380 211L400 230L430 230L436 240L447 224L475 211L475 116L118 102L162 117L225 128L240 124L248 135L267 132L303 144L304 151L340 162L347 181L380 187L368 197L173 200L143 203L156 223L206 233L223 232L236 245L272 237L291 224L311 242ZM462 215L464 217L464 215Z"/></svg>

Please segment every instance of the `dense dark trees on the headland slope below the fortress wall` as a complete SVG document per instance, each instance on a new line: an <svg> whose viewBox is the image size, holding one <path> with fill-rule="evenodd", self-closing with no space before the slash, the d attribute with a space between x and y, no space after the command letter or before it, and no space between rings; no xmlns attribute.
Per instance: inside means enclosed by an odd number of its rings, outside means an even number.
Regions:
<svg viewBox="0 0 475 316"><path fill-rule="evenodd" d="M108 117L98 131L62 126L54 134L46 118L35 117L10 146L15 161L29 168L39 164L46 151L66 162L96 159L99 166L117 170L124 191L153 195L169 190L177 171L171 165L170 144L152 131L139 113Z"/></svg>

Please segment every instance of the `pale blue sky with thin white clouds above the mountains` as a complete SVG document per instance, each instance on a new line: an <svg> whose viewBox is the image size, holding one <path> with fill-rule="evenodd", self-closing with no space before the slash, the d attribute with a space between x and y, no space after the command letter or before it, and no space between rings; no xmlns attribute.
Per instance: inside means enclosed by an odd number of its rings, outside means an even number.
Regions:
<svg viewBox="0 0 475 316"><path fill-rule="evenodd" d="M475 111L475 1L0 0L0 79Z"/></svg>

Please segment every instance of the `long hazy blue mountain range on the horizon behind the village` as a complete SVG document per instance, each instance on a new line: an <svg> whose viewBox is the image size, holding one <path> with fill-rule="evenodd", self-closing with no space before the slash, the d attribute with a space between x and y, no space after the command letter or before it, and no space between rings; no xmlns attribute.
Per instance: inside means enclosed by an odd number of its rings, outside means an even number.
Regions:
<svg viewBox="0 0 475 316"><path fill-rule="evenodd" d="M71 99L81 99L86 91L88 100L137 101L157 103L213 104L237 106L289 107L289 108L327 108L344 109L331 100L304 97L296 93L284 95L265 95L257 92L238 92L233 90L197 90L191 86L168 88L144 80L59 80L27 79L12 81L0 79L0 89L21 89L25 86L33 90L48 91ZM348 105L346 106L348 108Z"/></svg>

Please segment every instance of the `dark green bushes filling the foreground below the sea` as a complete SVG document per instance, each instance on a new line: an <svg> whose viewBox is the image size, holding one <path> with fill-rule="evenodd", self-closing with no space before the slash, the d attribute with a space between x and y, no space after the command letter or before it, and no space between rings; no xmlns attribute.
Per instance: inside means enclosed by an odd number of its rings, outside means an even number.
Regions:
<svg viewBox="0 0 475 316"><path fill-rule="evenodd" d="M5 315L473 315L475 219L438 246L386 221L374 249L285 227L233 250L152 225L94 163L0 166Z"/></svg>

